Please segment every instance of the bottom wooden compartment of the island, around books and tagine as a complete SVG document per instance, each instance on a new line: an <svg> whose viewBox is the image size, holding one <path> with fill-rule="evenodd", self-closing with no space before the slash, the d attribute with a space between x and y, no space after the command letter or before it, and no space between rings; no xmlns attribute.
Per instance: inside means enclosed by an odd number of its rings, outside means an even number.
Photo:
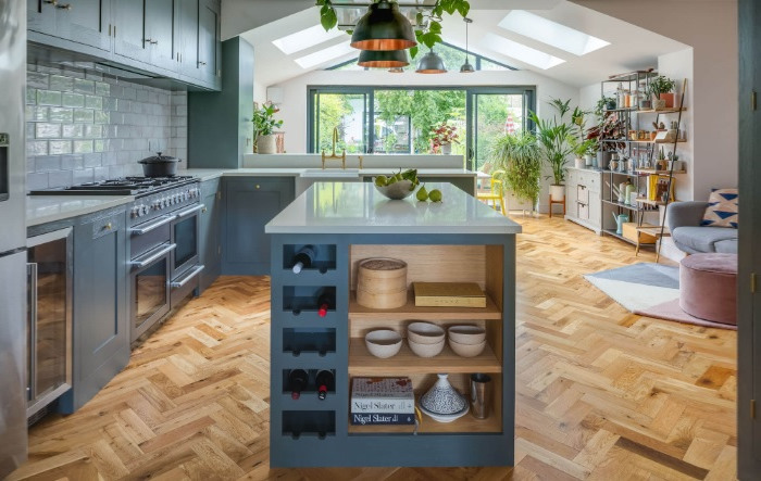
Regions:
<svg viewBox="0 0 761 481"><path fill-rule="evenodd" d="M394 376L394 375L387 375ZM425 394L437 381L435 374L412 375L412 385L415 392L415 405L420 406L420 397ZM470 374L450 374L449 382L454 389L469 397ZM350 381L351 382L351 381ZM438 422L431 417L423 415L423 423L417 430L420 434L456 434L456 433L500 433L502 432L502 381L499 376L491 376L491 407L486 419L476 419L472 412L452 422ZM349 384L351 385L351 384ZM351 392L351 388L349 388ZM351 413L351 408L349 408ZM412 434L412 425L380 425L380 426L355 426L349 421L349 434Z"/></svg>

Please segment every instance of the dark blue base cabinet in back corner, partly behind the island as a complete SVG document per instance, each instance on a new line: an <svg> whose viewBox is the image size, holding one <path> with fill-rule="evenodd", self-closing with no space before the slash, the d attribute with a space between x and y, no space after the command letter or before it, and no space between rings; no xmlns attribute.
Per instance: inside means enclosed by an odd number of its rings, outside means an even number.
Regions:
<svg viewBox="0 0 761 481"><path fill-rule="evenodd" d="M270 274L271 243L264 225L295 195L292 177L225 177L222 274Z"/></svg>

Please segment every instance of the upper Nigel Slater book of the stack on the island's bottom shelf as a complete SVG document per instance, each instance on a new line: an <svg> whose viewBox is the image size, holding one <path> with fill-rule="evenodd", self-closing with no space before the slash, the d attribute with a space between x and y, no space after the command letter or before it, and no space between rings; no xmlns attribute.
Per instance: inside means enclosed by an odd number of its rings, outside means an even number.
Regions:
<svg viewBox="0 0 761 481"><path fill-rule="evenodd" d="M351 414L415 414L410 378L353 378Z"/></svg>

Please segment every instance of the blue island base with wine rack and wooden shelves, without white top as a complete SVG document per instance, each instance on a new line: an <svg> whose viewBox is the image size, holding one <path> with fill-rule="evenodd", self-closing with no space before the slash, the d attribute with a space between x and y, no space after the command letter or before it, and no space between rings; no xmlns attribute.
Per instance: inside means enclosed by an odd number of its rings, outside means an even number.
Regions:
<svg viewBox="0 0 761 481"><path fill-rule="evenodd" d="M295 274L291 258L304 245L319 255ZM275 233L272 236L272 467L319 466L510 466L514 452L515 238L501 235ZM412 293L397 309L371 309L355 301L357 265L367 257L400 258L413 281L476 282L486 308L416 307ZM325 317L314 300L329 293L335 305ZM445 329L475 324L487 332L484 352L460 357L448 345L436 357L415 356L403 340L399 354L373 357L364 334L389 328L406 336L412 320ZM288 391L290 369L310 372L298 400ZM335 371L327 398L317 400L317 369ZM448 372L452 385L467 393L470 375L494 380L491 415L470 414L439 423L423 416L412 426L351 426L351 378L410 377L415 398ZM383 455L380 455L383 453Z"/></svg>

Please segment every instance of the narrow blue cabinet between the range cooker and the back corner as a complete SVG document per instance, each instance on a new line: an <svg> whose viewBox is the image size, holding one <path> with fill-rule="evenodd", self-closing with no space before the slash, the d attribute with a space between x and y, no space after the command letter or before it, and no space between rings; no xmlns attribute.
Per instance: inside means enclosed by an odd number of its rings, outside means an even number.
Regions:
<svg viewBox="0 0 761 481"><path fill-rule="evenodd" d="M201 182L201 210L200 263L204 266L201 270L199 294L207 290L222 273L222 243L221 223L222 217L222 190L220 179Z"/></svg>

